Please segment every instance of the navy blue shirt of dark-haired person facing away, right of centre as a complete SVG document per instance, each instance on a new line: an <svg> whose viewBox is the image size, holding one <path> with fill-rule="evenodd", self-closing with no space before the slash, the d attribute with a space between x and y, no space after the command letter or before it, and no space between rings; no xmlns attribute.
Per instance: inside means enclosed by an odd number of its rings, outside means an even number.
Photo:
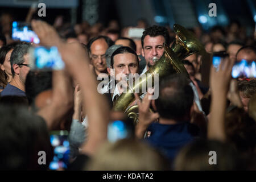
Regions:
<svg viewBox="0 0 256 182"><path fill-rule="evenodd" d="M175 125L152 123L148 129L150 137L146 141L157 148L173 162L179 150L199 135L199 128L189 122Z"/></svg>

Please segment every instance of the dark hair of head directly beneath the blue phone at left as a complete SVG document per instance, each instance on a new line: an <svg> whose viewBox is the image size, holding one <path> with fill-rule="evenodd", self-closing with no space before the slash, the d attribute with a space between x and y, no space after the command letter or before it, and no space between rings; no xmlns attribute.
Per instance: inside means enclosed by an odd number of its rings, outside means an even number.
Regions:
<svg viewBox="0 0 256 182"><path fill-rule="evenodd" d="M34 104L36 96L39 93L52 89L52 72L30 71L27 74L25 90L28 104Z"/></svg>

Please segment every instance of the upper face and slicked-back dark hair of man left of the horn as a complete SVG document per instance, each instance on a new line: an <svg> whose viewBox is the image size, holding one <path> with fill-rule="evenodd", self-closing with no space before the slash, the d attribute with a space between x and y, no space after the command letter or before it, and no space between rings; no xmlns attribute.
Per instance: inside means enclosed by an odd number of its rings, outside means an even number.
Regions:
<svg viewBox="0 0 256 182"><path fill-rule="evenodd" d="M129 76L129 73L139 72L139 58L137 53L130 47L122 46L116 49L110 59L110 68L114 69L115 78L120 80L122 75ZM108 69L111 73L110 69Z"/></svg>

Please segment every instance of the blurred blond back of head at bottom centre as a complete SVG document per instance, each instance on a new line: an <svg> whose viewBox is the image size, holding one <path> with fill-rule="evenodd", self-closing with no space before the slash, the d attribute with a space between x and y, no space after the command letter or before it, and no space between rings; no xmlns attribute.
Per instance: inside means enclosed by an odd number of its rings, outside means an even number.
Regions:
<svg viewBox="0 0 256 182"><path fill-rule="evenodd" d="M105 143L90 160L86 169L100 171L168 170L167 160L146 143L122 139Z"/></svg>

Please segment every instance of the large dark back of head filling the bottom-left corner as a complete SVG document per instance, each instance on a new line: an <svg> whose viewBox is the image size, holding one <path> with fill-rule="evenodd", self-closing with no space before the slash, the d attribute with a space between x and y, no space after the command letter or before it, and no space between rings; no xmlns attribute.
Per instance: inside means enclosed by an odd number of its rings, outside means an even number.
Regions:
<svg viewBox="0 0 256 182"><path fill-rule="evenodd" d="M0 106L0 169L47 169L53 151L46 123L22 107ZM47 165L38 164L46 152Z"/></svg>

